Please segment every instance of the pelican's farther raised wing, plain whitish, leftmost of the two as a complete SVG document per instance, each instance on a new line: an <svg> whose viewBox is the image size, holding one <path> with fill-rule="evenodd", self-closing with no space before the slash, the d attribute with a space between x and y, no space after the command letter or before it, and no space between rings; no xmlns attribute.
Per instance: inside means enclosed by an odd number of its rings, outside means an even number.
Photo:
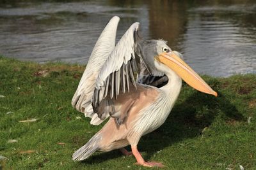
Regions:
<svg viewBox="0 0 256 170"><path fill-rule="evenodd" d="M113 17L100 34L95 44L86 69L77 87L76 93L72 98L72 106L76 110L84 113L86 117L95 115L92 110L92 96L95 88L96 79L100 69L108 59L115 47L116 29L119 17Z"/></svg>

